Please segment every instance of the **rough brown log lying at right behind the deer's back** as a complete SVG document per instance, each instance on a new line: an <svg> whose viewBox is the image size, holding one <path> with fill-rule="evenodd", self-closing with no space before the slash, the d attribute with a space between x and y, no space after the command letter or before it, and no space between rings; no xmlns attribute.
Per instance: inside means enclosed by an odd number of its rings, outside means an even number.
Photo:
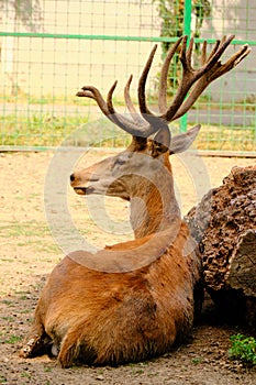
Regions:
<svg viewBox="0 0 256 385"><path fill-rule="evenodd" d="M256 166L232 168L186 220L221 316L256 329Z"/></svg>

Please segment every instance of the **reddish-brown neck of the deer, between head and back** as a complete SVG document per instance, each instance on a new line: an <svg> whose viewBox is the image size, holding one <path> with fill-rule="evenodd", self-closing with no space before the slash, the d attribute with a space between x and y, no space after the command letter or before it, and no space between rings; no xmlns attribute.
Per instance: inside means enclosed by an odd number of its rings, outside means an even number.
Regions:
<svg viewBox="0 0 256 385"><path fill-rule="evenodd" d="M180 219L171 173L155 175L146 185L136 184L131 195L130 220L135 239L169 228Z"/></svg>

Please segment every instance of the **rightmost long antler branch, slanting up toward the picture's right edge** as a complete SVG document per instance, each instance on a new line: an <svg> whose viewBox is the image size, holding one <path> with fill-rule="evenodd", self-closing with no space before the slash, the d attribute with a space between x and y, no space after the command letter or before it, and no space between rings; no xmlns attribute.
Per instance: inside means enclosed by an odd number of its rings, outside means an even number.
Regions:
<svg viewBox="0 0 256 385"><path fill-rule="evenodd" d="M232 68L234 68L241 61L243 61L249 53L251 48L248 45L244 45L240 51L233 54L224 64L216 62L211 72L205 73L193 86L189 97L185 103L179 108L172 120L182 117L196 102L202 91L210 85L211 81L215 80L220 76L224 75Z"/></svg>

